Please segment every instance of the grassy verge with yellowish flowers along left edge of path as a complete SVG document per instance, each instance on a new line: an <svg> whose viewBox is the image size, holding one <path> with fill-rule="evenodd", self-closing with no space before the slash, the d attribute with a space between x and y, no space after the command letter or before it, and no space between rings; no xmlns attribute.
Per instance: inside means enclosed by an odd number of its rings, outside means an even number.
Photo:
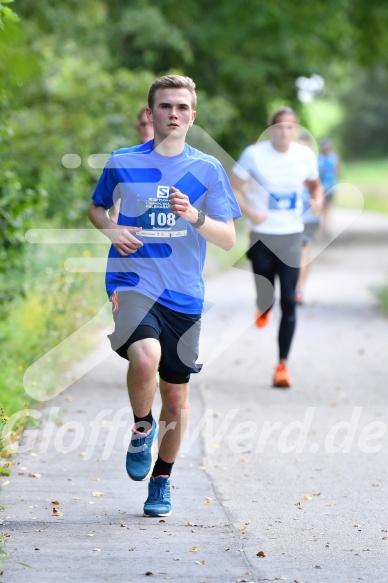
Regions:
<svg viewBox="0 0 388 583"><path fill-rule="evenodd" d="M101 330L80 333L77 342L63 344L50 362L45 356L74 332L88 323L106 302L103 273L70 273L64 269L67 257L88 257L81 245L61 248L31 246L29 270L26 273L24 297L8 308L7 318L0 323L3 365L0 369L0 452L1 429L7 418L22 409L39 406L53 391L64 371L87 356ZM102 257L99 249L93 250ZM98 255L97 255L98 256ZM39 393L32 398L24 388L26 370L44 357L43 374L39 377ZM34 384L34 383L32 383ZM4 453L4 452L3 452Z"/></svg>

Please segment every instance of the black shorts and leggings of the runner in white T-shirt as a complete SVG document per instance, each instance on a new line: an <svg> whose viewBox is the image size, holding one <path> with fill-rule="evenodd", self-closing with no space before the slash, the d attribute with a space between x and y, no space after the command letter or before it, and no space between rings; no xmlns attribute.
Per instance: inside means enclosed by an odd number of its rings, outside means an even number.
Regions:
<svg viewBox="0 0 388 583"><path fill-rule="evenodd" d="M275 300L275 276L279 276L282 311L278 334L280 359L288 357L295 332L295 288L299 276L301 249L301 233L291 235L251 233L251 247L247 256L251 260L253 273L265 277L273 286L269 292L268 286L263 285L261 278L255 277L257 307L260 312L272 307Z"/></svg>

